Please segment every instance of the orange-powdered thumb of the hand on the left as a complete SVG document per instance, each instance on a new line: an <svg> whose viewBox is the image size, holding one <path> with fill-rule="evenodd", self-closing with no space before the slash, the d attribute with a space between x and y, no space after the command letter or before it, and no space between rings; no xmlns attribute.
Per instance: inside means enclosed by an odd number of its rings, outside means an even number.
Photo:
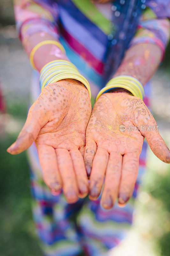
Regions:
<svg viewBox="0 0 170 256"><path fill-rule="evenodd" d="M28 111L26 122L17 140L7 149L7 152L15 155L29 148L47 122L48 116L42 113L39 104L34 103Z"/></svg>

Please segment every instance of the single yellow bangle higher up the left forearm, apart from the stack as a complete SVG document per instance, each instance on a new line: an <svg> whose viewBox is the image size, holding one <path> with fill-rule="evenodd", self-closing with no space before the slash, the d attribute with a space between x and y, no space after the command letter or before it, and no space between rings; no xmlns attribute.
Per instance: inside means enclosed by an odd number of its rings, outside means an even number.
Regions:
<svg viewBox="0 0 170 256"><path fill-rule="evenodd" d="M34 57L34 54L35 52L38 50L38 48L40 48L42 45L46 45L46 44L54 44L56 45L63 53L65 53L65 50L64 50L64 47L62 44L60 44L59 42L57 41L54 41L54 40L45 40L45 41L42 41L40 42L39 44L36 44L32 51L30 52L30 64L32 66L32 68L36 69L35 65L34 65L34 62L33 62L33 57Z"/></svg>

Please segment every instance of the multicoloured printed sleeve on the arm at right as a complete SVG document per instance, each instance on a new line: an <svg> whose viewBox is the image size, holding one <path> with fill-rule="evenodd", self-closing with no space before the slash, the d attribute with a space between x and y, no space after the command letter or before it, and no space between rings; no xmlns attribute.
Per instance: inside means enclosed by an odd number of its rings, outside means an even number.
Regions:
<svg viewBox="0 0 170 256"><path fill-rule="evenodd" d="M170 36L170 0L146 0L145 6L130 46L141 43L156 44L161 49L163 59Z"/></svg>

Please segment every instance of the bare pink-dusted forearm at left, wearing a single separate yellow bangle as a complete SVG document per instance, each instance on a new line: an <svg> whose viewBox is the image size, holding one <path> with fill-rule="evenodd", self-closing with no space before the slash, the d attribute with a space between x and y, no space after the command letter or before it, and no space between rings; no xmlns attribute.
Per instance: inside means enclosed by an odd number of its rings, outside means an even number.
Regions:
<svg viewBox="0 0 170 256"><path fill-rule="evenodd" d="M33 34L28 39L23 40L22 44L27 55L28 56L30 55L31 50L36 44L45 40L57 41L56 38L54 38L53 36L45 32L39 32L39 33ZM46 65L49 61L52 61L52 60L68 60L68 59L66 55L56 45L53 45L53 44L42 45L40 48L37 49L33 57L34 65L38 71L40 71L44 65Z"/></svg>

